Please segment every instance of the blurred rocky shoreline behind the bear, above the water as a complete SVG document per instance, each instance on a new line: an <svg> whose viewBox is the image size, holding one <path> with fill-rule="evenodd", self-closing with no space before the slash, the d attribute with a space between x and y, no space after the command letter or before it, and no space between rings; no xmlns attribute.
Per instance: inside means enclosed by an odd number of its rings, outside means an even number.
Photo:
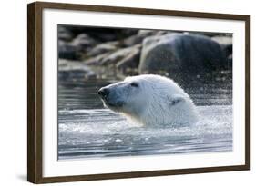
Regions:
<svg viewBox="0 0 256 186"><path fill-rule="evenodd" d="M58 26L60 78L158 73L188 80L232 69L232 34ZM95 70L97 69L97 70ZM101 69L101 70L98 70Z"/></svg>

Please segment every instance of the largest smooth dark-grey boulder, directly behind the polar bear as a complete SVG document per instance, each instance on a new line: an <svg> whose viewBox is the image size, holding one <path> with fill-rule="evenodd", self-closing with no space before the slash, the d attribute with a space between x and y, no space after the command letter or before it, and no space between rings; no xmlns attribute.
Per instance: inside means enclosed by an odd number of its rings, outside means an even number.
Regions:
<svg viewBox="0 0 256 186"><path fill-rule="evenodd" d="M227 66L220 44L199 34L166 34L143 41L139 73L184 76Z"/></svg>

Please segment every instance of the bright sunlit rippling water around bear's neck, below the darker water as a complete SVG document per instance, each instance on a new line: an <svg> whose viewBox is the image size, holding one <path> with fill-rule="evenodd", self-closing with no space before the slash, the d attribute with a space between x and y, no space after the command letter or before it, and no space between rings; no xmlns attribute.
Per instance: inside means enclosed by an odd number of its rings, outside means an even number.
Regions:
<svg viewBox="0 0 256 186"><path fill-rule="evenodd" d="M232 107L199 106L193 126L135 127L108 109L60 110L58 158L232 151Z"/></svg>

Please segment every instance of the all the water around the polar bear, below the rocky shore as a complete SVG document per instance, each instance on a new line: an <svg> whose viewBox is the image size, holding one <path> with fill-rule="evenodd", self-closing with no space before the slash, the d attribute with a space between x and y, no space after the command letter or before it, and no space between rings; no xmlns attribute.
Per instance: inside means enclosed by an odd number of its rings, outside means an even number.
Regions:
<svg viewBox="0 0 256 186"><path fill-rule="evenodd" d="M59 160L232 151L231 83L185 87L200 113L197 124L148 128L103 107L97 89L113 82L59 81Z"/></svg>

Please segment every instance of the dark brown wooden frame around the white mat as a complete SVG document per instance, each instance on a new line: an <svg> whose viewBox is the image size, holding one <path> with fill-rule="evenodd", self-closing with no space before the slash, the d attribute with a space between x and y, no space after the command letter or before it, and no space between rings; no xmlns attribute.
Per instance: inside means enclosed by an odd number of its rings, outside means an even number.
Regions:
<svg viewBox="0 0 256 186"><path fill-rule="evenodd" d="M136 171L94 175L43 177L42 175L42 11L44 8L96 11L140 15L169 15L245 22L245 164L208 168L162 171ZM34 183L61 181L91 181L146 176L163 176L215 171L242 171L250 169L250 15L227 15L199 12L142 9L101 5L75 5L35 2L27 5L27 181Z"/></svg>

